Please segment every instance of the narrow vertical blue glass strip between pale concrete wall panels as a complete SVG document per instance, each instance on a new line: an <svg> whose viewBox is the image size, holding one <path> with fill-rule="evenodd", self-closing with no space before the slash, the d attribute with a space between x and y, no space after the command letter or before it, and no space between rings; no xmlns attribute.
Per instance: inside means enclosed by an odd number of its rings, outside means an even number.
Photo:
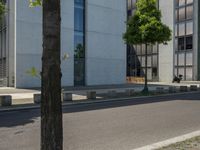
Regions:
<svg viewBox="0 0 200 150"><path fill-rule="evenodd" d="M85 0L74 0L74 85L85 84Z"/></svg>

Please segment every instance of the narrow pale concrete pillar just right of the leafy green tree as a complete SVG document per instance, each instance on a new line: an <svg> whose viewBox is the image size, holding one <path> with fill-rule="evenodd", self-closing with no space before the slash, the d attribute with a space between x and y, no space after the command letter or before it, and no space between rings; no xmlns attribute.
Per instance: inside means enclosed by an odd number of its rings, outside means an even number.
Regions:
<svg viewBox="0 0 200 150"><path fill-rule="evenodd" d="M172 31L172 40L159 45L159 81L171 82L174 76L174 0L159 0L162 22Z"/></svg>

